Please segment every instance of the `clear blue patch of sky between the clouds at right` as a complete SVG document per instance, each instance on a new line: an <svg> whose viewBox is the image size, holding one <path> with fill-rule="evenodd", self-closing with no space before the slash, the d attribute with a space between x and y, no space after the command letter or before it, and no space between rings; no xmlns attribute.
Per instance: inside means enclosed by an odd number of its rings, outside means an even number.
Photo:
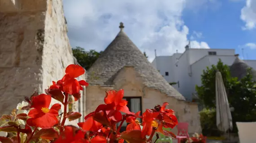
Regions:
<svg viewBox="0 0 256 143"><path fill-rule="evenodd" d="M245 22L240 15L245 3L245 0L223 0L217 9L200 10L198 13L185 10L182 17L190 30L203 33L203 38L198 40L207 42L211 48L236 49L241 56L243 48L244 59L256 59L256 49L244 46L246 43L256 43L256 30L242 29Z"/></svg>

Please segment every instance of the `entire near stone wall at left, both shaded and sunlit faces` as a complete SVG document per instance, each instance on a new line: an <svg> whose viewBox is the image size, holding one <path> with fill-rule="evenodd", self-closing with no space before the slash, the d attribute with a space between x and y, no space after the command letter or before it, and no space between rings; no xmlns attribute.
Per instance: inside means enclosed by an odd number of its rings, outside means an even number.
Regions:
<svg viewBox="0 0 256 143"><path fill-rule="evenodd" d="M15 1L0 0L0 114L9 114L34 91L44 93L75 63L62 0ZM83 113L83 105L75 102L74 109Z"/></svg>

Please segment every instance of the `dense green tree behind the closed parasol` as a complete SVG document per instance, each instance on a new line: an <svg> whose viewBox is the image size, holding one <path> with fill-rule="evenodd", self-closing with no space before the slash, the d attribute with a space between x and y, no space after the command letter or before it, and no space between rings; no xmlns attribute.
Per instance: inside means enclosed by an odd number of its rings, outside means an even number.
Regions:
<svg viewBox="0 0 256 143"><path fill-rule="evenodd" d="M222 74L230 106L234 107L234 111L231 112L234 126L233 131L237 132L235 122L254 122L256 119L256 82L252 80L251 69L247 70L247 75L240 81L237 78L231 77L230 68L223 64L221 60L219 60L216 66L212 65L211 68L207 67L203 71L201 76L202 86L196 85L196 90L200 101L206 107L206 109L201 111L200 115L203 116L201 117L202 128L207 131L207 134L210 132L210 128L216 129L216 119L213 119L214 117L209 119L210 115L208 115L214 112L213 110L209 112L207 109L215 110L216 108L215 75L217 69ZM209 118L203 119L206 117Z"/></svg>

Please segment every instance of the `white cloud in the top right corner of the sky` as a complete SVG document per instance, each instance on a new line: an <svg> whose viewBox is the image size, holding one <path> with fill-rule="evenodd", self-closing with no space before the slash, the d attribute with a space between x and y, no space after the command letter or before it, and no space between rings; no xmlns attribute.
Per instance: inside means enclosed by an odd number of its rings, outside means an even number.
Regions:
<svg viewBox="0 0 256 143"><path fill-rule="evenodd" d="M246 0L240 18L246 23L242 29L254 29L256 27L256 0Z"/></svg>

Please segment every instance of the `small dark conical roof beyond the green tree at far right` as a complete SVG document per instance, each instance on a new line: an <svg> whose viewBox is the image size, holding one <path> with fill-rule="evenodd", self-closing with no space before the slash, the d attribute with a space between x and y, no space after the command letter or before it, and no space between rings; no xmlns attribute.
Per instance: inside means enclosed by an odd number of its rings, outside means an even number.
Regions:
<svg viewBox="0 0 256 143"><path fill-rule="evenodd" d="M241 80L244 76L246 76L247 69L251 68L247 63L243 60L239 59L237 56L234 60L234 63L230 66L230 73L232 77L237 77L238 80ZM251 70L252 78L256 81L256 71L255 69Z"/></svg>

